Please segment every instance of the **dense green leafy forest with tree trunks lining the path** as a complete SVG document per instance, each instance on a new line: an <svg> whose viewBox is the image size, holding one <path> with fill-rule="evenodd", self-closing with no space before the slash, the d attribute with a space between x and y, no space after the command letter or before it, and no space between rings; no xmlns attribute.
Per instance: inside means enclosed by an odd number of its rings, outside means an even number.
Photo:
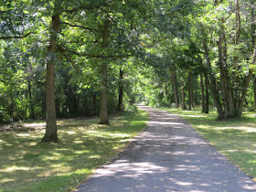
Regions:
<svg viewBox="0 0 256 192"><path fill-rule="evenodd" d="M256 109L254 0L5 0L0 124L109 115L144 102L218 112Z"/></svg>

